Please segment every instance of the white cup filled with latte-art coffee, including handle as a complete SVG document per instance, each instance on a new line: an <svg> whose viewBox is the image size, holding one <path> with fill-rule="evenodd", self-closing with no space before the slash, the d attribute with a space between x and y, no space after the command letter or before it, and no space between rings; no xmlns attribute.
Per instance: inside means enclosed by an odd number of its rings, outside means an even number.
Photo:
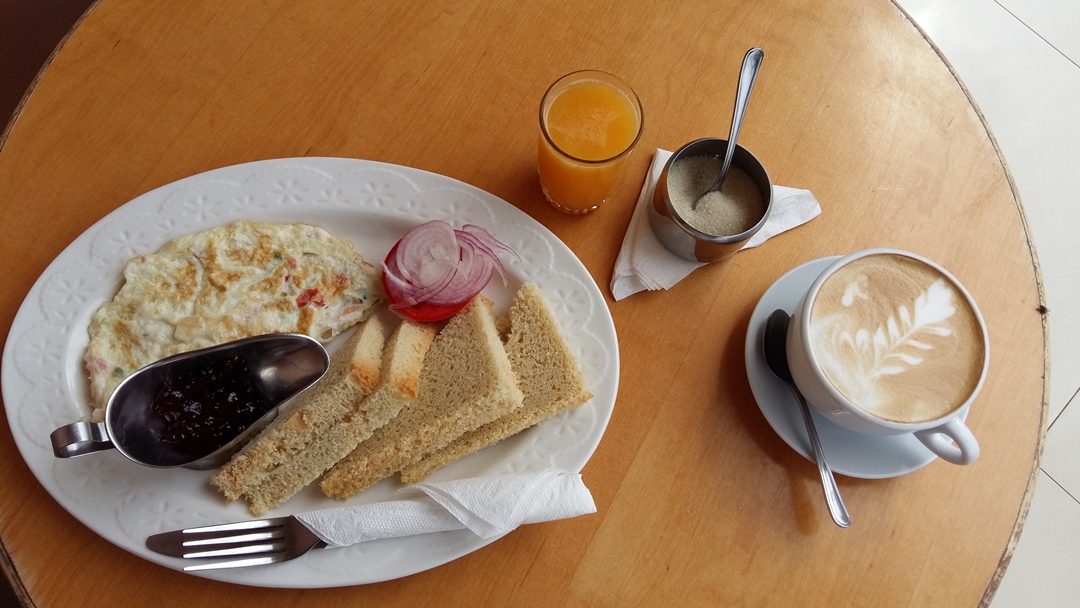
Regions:
<svg viewBox="0 0 1080 608"><path fill-rule="evenodd" d="M989 334L971 294L940 265L900 249L831 264L787 332L795 384L827 420L878 435L913 433L970 464L964 420L989 366Z"/></svg>

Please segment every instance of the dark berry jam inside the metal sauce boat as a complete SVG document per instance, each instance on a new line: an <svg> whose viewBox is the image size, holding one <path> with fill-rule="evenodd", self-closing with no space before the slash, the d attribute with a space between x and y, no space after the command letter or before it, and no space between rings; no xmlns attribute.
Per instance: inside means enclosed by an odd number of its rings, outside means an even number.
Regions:
<svg viewBox="0 0 1080 608"><path fill-rule="evenodd" d="M152 407L165 423L162 444L202 458L232 441L271 406L253 381L247 363L232 353L214 367L166 378Z"/></svg>

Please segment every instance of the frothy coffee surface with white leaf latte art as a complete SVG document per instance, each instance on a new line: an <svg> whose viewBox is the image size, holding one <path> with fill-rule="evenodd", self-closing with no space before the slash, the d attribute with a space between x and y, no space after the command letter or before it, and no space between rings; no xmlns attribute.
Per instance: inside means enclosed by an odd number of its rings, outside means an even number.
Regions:
<svg viewBox="0 0 1080 608"><path fill-rule="evenodd" d="M978 313L962 289L932 266L891 253L854 259L822 283L809 342L840 394L903 423L962 406L987 355Z"/></svg>

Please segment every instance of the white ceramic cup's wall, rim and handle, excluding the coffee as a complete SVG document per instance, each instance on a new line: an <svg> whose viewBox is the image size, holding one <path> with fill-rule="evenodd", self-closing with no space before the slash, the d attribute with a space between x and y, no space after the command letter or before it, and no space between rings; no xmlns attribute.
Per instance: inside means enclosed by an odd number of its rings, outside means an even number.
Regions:
<svg viewBox="0 0 1080 608"><path fill-rule="evenodd" d="M819 355L815 354L813 343L811 342L813 332L810 326L810 317L811 310L821 294L822 286L841 268L847 267L855 260L874 255L901 256L929 266L933 271L936 271L936 274L945 281L948 287L951 287L953 297L966 300L974 314L978 330L975 339L981 338L983 341L982 369L977 371L977 381L972 384L967 397L962 400L960 405L943 416L928 420L897 422L874 415L867 410L868 408L852 403L829 381L823 370L821 361L819 361ZM886 329L888 320L881 321L882 325L879 327L888 333L889 329ZM874 335L874 328L870 328L869 335ZM955 276L940 265L922 256L900 249L886 248L855 252L831 264L814 280L810 289L795 309L787 330L787 361L795 384L814 409L821 413L826 419L861 433L877 435L914 433L931 451L954 464L970 464L978 458L978 442L968 429L964 420L967 419L968 410L971 408L971 403L975 400L986 379L986 371L989 367L989 335L986 330L986 323L983 315L978 307L975 306L971 294L968 293Z"/></svg>

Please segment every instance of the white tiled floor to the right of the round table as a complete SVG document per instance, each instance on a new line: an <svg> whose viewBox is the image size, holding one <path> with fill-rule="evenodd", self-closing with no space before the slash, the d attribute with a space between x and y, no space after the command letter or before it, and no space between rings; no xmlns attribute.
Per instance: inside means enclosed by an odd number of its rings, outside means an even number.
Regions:
<svg viewBox="0 0 1080 608"><path fill-rule="evenodd" d="M994 608L1080 606L1080 2L895 0L953 65L1013 173L1050 309L1050 429Z"/></svg>

